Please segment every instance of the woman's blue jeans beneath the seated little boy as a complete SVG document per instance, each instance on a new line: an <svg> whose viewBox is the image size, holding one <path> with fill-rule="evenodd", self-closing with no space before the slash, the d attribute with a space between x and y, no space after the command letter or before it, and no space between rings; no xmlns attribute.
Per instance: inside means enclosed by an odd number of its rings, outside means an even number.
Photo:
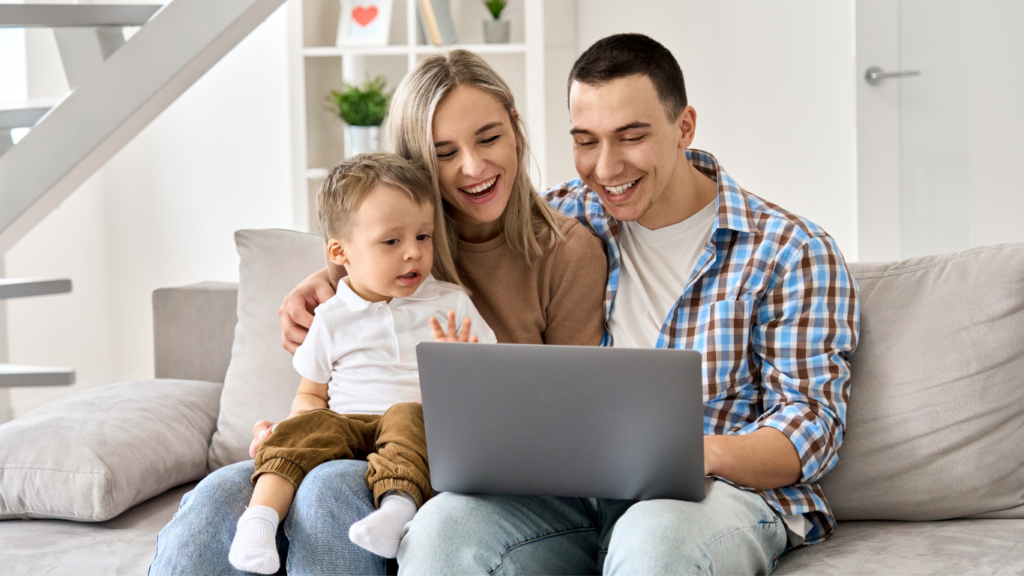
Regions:
<svg viewBox="0 0 1024 576"><path fill-rule="evenodd" d="M253 494L253 461L220 468L181 498L157 537L153 576L243 574L227 561L234 527ZM384 559L348 539L348 527L374 510L367 462L334 460L302 481L278 532L289 574L384 574Z"/></svg>

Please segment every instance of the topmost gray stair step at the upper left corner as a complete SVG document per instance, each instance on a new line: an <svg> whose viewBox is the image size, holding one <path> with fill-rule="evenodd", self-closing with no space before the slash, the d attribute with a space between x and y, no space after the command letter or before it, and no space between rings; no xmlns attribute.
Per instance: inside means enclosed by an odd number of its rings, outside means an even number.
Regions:
<svg viewBox="0 0 1024 576"><path fill-rule="evenodd" d="M0 28L142 26L158 4L0 4Z"/></svg>

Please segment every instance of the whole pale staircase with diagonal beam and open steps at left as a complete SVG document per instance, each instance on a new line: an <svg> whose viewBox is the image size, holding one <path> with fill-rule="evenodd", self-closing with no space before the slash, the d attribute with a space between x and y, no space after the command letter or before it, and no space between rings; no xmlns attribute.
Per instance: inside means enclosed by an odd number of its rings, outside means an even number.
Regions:
<svg viewBox="0 0 1024 576"><path fill-rule="evenodd" d="M0 3L0 28L53 29L72 88L59 101L0 102L0 255L283 2ZM19 128L30 131L15 145ZM70 280L0 280L0 299L70 291ZM74 382L69 369L0 365L0 387Z"/></svg>

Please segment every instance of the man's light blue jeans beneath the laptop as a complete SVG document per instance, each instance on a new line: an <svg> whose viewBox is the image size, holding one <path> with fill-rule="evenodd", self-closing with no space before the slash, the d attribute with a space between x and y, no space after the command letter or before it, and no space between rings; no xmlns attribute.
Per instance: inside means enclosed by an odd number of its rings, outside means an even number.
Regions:
<svg viewBox="0 0 1024 576"><path fill-rule="evenodd" d="M406 526L399 574L769 574L785 549L781 519L716 482L678 500L444 493Z"/></svg>

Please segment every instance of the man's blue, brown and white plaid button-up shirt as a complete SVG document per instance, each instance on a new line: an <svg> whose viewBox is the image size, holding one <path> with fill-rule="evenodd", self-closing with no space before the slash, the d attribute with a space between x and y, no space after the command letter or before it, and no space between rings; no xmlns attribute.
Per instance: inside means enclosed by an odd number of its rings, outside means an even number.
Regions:
<svg viewBox="0 0 1024 576"><path fill-rule="evenodd" d="M800 455L797 484L756 491L779 515L805 515L805 544L836 529L815 484L838 459L850 399L850 355L860 313L856 285L836 242L817 224L739 188L714 156L686 158L718 182L718 216L690 280L668 313L656 347L703 358L705 434L781 430ZM595 192L572 180L544 193L605 243L605 315L618 287L620 222ZM610 344L605 332L604 344Z"/></svg>

